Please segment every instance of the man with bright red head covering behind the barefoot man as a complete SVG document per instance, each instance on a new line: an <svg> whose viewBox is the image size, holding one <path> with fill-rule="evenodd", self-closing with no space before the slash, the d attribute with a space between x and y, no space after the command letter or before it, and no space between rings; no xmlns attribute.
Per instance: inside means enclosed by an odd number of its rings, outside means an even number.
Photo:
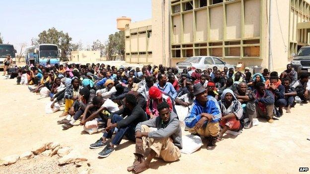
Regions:
<svg viewBox="0 0 310 174"><path fill-rule="evenodd" d="M151 118L159 116L157 105L166 102L169 105L170 111L173 111L172 101L169 96L163 94L157 87L152 86L149 90L149 100L147 103L147 114Z"/></svg>

